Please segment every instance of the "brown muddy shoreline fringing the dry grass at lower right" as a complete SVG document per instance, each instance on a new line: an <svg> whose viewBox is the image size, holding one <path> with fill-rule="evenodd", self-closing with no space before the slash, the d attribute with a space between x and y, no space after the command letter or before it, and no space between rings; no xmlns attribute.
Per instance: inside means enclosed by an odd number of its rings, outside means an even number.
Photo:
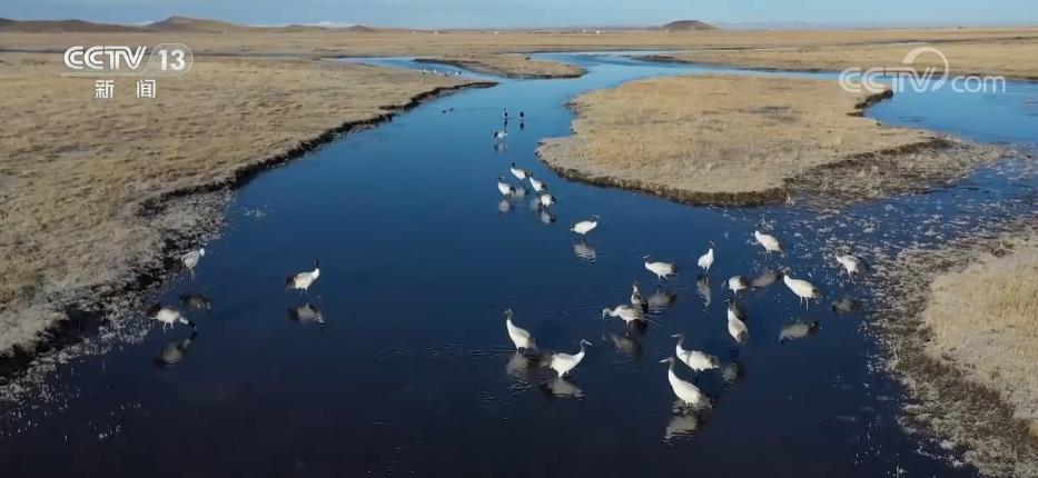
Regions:
<svg viewBox="0 0 1038 478"><path fill-rule="evenodd" d="M947 357L927 353L932 330L923 311L935 278L963 270L981 253L1010 253L1001 238L1034 231L1036 221L1038 210L986 223L936 250L902 251L876 265L870 280L878 307L869 327L878 338L886 370L908 395L902 425L941 448L961 451L985 476L1038 477L1038 436L1014 417L998 391L970 380Z"/></svg>

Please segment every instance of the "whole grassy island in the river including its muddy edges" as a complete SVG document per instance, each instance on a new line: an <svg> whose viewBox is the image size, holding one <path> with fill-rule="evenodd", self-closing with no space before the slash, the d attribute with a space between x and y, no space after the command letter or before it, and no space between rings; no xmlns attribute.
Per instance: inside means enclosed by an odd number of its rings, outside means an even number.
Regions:
<svg viewBox="0 0 1038 478"><path fill-rule="evenodd" d="M999 157L996 148L861 114L887 96L787 78L634 81L574 99L573 136L545 140L538 155L573 179L739 206L793 193L853 201L918 190Z"/></svg>

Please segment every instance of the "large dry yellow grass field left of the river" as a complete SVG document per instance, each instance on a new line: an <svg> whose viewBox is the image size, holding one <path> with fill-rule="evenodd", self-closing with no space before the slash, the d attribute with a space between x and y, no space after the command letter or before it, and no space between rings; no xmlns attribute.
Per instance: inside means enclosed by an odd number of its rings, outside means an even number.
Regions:
<svg viewBox="0 0 1038 478"><path fill-rule="evenodd" d="M312 60L197 58L137 99L117 80L62 78L59 54L0 53L0 350L31 339L49 307L132 280L162 235L145 201L231 180L345 122L462 81Z"/></svg>

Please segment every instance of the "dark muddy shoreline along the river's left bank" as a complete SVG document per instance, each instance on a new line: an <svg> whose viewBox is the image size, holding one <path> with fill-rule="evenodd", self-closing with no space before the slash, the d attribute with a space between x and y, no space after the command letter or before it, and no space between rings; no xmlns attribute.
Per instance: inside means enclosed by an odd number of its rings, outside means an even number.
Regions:
<svg viewBox="0 0 1038 478"><path fill-rule="evenodd" d="M228 195L246 186L257 175L298 159L349 132L392 121L395 116L427 101L468 88L491 88L495 84L491 81L476 81L437 87L413 96L404 104L383 106L380 109L385 112L382 114L359 121L344 122L317 137L301 141L288 151L244 165L224 178L166 192L145 201L138 215L148 220L156 220L175 208L190 209L189 213L197 213L202 220L192 223L187 229L162 229L164 247L156 255L160 258L159 266L135 271L132 279L126 285L99 286L66 300L66 303L71 303L62 309L66 320L51 323L33 341L16 345L4 353L0 353L0 388L7 387L26 375L38 359L55 356L72 346L81 345L102 328L112 326L117 319L132 315L132 311L120 310L125 307L116 307L116 305L142 303L144 298L155 293L162 283L178 273L177 257L190 245L217 238L224 222L224 209L230 201ZM192 200L197 200L197 203L192 205ZM180 202L186 202L186 205ZM69 358L63 357L61 360ZM0 399L2 398L0 396Z"/></svg>

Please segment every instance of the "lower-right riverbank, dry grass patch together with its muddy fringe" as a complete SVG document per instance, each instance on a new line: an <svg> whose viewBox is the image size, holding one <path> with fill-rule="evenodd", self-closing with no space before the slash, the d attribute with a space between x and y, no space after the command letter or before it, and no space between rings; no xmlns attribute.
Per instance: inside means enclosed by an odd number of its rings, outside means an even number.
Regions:
<svg viewBox="0 0 1038 478"><path fill-rule="evenodd" d="M909 428L986 476L1038 476L1038 236L1030 218L877 265L873 313Z"/></svg>

